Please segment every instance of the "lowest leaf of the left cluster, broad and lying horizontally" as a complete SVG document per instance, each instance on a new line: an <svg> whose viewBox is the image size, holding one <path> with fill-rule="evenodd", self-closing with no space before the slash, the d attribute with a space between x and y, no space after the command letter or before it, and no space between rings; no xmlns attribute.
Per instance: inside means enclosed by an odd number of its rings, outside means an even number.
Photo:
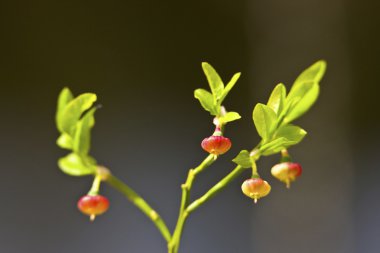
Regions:
<svg viewBox="0 0 380 253"><path fill-rule="evenodd" d="M96 166L86 163L78 154L71 153L58 160L59 168L70 176L86 176L94 174Z"/></svg>

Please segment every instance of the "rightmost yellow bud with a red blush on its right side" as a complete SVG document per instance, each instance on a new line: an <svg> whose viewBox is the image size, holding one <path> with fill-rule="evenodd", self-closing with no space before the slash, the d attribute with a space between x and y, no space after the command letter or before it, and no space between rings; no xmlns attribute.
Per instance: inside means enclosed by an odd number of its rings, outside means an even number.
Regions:
<svg viewBox="0 0 380 253"><path fill-rule="evenodd" d="M299 163L284 162L276 164L271 169L272 175L284 182L286 187L290 187L290 183L295 181L302 174L302 167Z"/></svg>

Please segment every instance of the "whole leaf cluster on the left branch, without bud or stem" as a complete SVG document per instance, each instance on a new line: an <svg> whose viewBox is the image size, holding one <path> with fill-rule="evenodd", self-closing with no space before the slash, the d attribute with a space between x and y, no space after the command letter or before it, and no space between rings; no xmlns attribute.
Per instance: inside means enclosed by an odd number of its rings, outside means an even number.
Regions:
<svg viewBox="0 0 380 253"><path fill-rule="evenodd" d="M68 88L64 88L58 97L56 124L61 135L57 145L72 151L58 161L66 174L84 176L95 173L96 162L88 155L96 111L91 107L95 101L96 95L93 93L74 98Z"/></svg>

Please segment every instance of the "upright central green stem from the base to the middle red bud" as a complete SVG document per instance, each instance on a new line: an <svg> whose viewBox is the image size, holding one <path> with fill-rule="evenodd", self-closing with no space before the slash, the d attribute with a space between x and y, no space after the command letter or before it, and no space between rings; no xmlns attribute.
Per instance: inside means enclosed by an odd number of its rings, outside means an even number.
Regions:
<svg viewBox="0 0 380 253"><path fill-rule="evenodd" d="M177 220L177 225L174 229L172 239L170 240L168 244L168 252L169 253L177 253L180 240L181 240L181 235L183 231L183 227L185 225L186 219L188 217L188 212L186 211L186 208L189 204L190 200L190 191L193 186L194 179L196 175L201 173L205 168L209 167L211 164L215 162L217 159L217 156L215 155L208 155L206 159L203 160L203 162L196 167L195 169L190 169L186 182L181 185L182 188L182 199L181 199L181 207L178 215L178 220Z"/></svg>

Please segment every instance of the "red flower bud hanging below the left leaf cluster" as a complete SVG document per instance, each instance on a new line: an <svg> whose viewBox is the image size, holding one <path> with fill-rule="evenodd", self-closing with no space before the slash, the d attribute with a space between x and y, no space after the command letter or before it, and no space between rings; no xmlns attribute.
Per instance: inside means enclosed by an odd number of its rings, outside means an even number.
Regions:
<svg viewBox="0 0 380 253"><path fill-rule="evenodd" d="M109 205L108 199L102 195L85 195L78 201L78 209L90 216L91 221L95 219L96 215L106 212Z"/></svg>

